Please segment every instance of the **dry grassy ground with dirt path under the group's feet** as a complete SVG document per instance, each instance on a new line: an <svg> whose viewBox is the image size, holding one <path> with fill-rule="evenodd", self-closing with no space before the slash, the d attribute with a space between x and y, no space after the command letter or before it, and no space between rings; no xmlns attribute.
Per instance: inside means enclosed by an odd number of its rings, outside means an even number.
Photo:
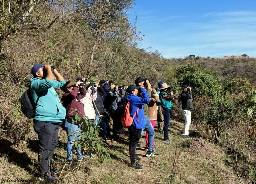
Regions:
<svg viewBox="0 0 256 184"><path fill-rule="evenodd" d="M163 142L163 135L156 133L156 152L159 157L145 157L145 132L142 145L138 148L138 155L142 158L140 164L143 170L129 167L128 137L122 135L121 142L110 141L108 150L111 159L100 163L97 157L85 161L78 169L76 166L63 169L58 180L61 183L169 183L173 176L173 183L237 183L238 179L232 167L226 150L216 145L204 142L200 138L184 139L181 136L183 123L171 121L169 128L171 144ZM157 129L157 128L156 128ZM191 132L195 127L191 127ZM66 134L61 132L58 147L54 154L53 165L61 170L66 161ZM35 152L36 137L28 140L28 149L23 151L12 147L3 151L0 158L0 177L4 179L29 180L37 182L36 167L37 154ZM3 143L1 140L1 145ZM204 145L204 146L203 146ZM173 164L177 165L172 171ZM74 170L73 170L74 169ZM7 183L7 182L6 182ZM40 182L39 182L40 183ZM56 182L57 183L57 182Z"/></svg>

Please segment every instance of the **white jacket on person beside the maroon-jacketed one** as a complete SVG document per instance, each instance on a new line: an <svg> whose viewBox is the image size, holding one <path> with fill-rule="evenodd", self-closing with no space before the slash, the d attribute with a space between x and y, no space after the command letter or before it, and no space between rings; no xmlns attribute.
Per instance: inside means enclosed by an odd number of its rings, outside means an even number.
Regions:
<svg viewBox="0 0 256 184"><path fill-rule="evenodd" d="M92 90L88 88L88 90L86 91L85 97L81 99L81 102L84 105L85 116L87 116L88 117L87 119L89 120L93 120L96 118L92 100L93 101L96 100L97 92L91 95L91 91Z"/></svg>

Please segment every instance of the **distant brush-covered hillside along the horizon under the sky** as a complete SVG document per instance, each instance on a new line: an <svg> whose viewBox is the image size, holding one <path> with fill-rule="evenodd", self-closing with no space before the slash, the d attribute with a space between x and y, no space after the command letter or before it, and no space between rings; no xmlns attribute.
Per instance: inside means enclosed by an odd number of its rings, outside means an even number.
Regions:
<svg viewBox="0 0 256 184"><path fill-rule="evenodd" d="M213 69L218 73L221 80L229 74L231 77L248 78L251 83L256 82L256 58L242 56L225 56L222 58L187 57L164 59L161 55L144 54L144 60L154 60L166 68L177 68L190 62L204 64L207 69ZM159 67L159 66L158 66Z"/></svg>

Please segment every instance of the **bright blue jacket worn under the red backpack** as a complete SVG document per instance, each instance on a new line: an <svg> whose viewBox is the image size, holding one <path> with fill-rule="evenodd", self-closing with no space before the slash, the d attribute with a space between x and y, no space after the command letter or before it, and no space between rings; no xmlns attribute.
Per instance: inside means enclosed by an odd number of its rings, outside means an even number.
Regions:
<svg viewBox="0 0 256 184"><path fill-rule="evenodd" d="M147 104L150 102L150 98L144 88L141 89L142 97L138 97L133 94L128 94L126 97L127 102L130 102L130 115L133 117L136 113L137 109L138 114L134 117L132 126L136 129L142 129L145 128L145 122L144 122L144 111L142 105ZM137 122L137 119L139 122Z"/></svg>

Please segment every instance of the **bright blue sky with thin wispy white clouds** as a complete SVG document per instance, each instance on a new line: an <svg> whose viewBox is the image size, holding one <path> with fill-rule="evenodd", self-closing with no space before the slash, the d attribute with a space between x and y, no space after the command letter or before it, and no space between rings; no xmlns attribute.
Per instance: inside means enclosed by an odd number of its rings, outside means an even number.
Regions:
<svg viewBox="0 0 256 184"><path fill-rule="evenodd" d="M145 34L140 48L158 50L165 58L256 57L256 1L135 0L128 12Z"/></svg>

